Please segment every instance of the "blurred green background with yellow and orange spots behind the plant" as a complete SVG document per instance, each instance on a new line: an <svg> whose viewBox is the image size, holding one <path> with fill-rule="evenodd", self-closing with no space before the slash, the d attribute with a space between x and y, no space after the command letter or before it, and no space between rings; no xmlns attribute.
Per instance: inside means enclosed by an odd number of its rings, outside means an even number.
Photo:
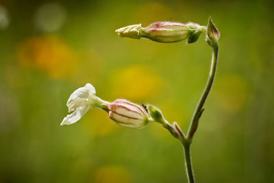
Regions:
<svg viewBox="0 0 274 183"><path fill-rule="evenodd" d="M153 103L184 131L211 49L120 38L115 29L208 17L216 82L192 144L197 182L274 182L271 1L0 0L0 182L186 182L179 141L158 124L119 127L92 109L60 126L87 82L102 99Z"/></svg>

